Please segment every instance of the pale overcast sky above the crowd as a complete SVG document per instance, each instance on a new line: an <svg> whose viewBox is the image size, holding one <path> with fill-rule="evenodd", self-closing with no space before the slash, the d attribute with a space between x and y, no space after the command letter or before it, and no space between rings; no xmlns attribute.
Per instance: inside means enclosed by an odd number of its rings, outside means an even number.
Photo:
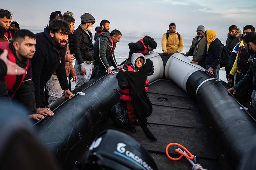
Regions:
<svg viewBox="0 0 256 170"><path fill-rule="evenodd" d="M12 5L15 4L15 5ZM1 2L1 8L13 14L21 28L44 28L51 12L71 11L80 24L85 12L95 17L95 26L102 19L110 21L110 30L123 33L146 32L161 35L171 22L176 23L181 35L195 35L198 25L216 30L217 36L226 36L230 25L239 28L256 26L256 0L12 0Z"/></svg>

